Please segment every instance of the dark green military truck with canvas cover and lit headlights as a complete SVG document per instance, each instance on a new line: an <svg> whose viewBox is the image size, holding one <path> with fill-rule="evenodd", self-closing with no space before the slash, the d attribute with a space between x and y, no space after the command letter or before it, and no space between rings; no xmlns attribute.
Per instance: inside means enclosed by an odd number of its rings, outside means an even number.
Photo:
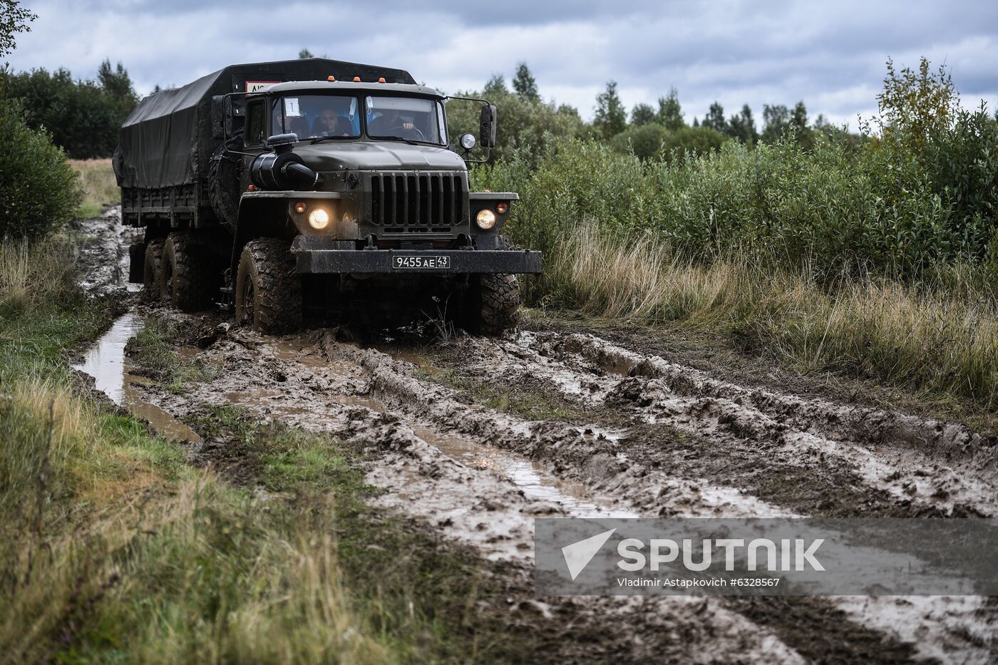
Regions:
<svg viewBox="0 0 998 665"><path fill-rule="evenodd" d="M448 142L445 102L481 103L477 139ZM516 276L542 258L502 234L516 194L469 191L466 163L494 147L496 117L408 72L324 58L156 93L114 158L122 221L145 229L130 279L150 300L219 305L265 333L303 318L503 333Z"/></svg>

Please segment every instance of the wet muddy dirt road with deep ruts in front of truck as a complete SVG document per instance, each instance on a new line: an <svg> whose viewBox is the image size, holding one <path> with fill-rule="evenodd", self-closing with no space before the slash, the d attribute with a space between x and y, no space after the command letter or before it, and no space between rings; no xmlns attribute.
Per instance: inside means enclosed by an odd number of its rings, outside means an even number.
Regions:
<svg viewBox="0 0 998 665"><path fill-rule="evenodd" d="M200 380L130 374L141 358L125 343L154 316L180 324L182 356L211 369ZM359 444L386 509L509 564L511 625L586 626L588 643L553 660L995 662L998 605L984 597L533 598L529 577L537 516L996 516L993 437L739 384L593 333L339 333L264 336L135 305L81 366L193 459L238 467L238 450L184 425L222 403Z"/></svg>

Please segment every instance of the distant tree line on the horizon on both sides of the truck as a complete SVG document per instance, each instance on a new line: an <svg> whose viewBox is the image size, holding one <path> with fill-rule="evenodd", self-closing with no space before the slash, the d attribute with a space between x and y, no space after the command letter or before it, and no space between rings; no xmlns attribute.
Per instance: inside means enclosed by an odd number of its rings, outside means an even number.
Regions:
<svg viewBox="0 0 998 665"><path fill-rule="evenodd" d="M298 54L301 58L311 56L307 49ZM121 62L113 66L110 60L101 64L94 79L75 79L65 68L52 72L4 70L0 84L9 98L20 100L27 125L47 131L52 141L75 159L109 157L118 145L122 123L139 101L128 70ZM153 93L159 91L157 86ZM518 64L509 86L502 75L495 75L481 91L462 94L484 95L500 108L500 145L493 151L493 162L510 157L513 151L530 151L539 159L545 146L560 138L598 139L620 152L650 159L660 153L715 150L729 140L749 146L774 143L788 135L809 147L821 134L839 132L821 116L809 124L802 101L792 108L764 105L761 129L756 129L748 104L739 113L726 116L722 105L715 102L703 119L687 123L676 88L660 97L656 106L638 104L629 113L615 81L608 82L597 96L594 118L587 123L574 107L542 99L537 80L524 62ZM454 136L474 131L476 109L455 104L448 107L448 114ZM855 136L850 139L858 141Z"/></svg>

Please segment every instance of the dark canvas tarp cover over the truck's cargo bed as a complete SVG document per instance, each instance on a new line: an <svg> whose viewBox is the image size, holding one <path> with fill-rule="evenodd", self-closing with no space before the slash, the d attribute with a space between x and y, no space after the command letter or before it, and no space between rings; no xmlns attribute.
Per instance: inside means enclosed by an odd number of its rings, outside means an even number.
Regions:
<svg viewBox="0 0 998 665"><path fill-rule="evenodd" d="M220 141L212 139L212 97L245 92L246 81L316 81L328 75L384 76L391 83L414 83L400 69L308 58L232 65L143 99L122 125L114 168L119 187L160 188L203 178Z"/></svg>

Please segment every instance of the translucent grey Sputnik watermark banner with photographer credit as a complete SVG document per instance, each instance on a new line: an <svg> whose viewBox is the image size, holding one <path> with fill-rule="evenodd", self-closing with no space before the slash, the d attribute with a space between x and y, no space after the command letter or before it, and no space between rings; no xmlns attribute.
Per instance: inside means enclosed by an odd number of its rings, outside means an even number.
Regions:
<svg viewBox="0 0 998 665"><path fill-rule="evenodd" d="M538 519L542 595L998 592L987 519Z"/></svg>

